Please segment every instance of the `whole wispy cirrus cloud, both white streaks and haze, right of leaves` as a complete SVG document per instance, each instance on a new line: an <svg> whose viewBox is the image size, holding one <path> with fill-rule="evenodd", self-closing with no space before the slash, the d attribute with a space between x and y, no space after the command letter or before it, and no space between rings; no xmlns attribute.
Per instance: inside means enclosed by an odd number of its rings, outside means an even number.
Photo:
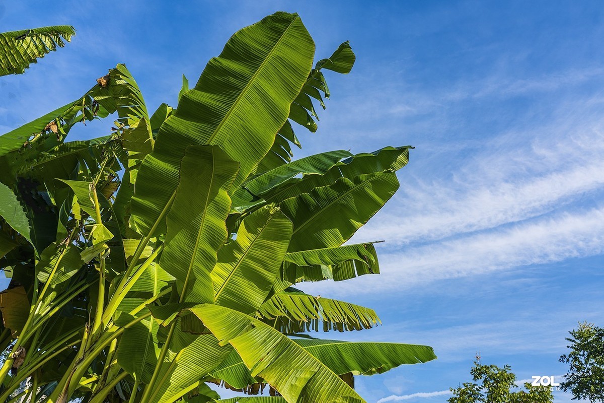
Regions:
<svg viewBox="0 0 604 403"><path fill-rule="evenodd" d="M382 276L311 289L400 289L604 253L604 119L592 101L561 102L556 120L493 138L449 175L415 173L353 239L388 240Z"/></svg>

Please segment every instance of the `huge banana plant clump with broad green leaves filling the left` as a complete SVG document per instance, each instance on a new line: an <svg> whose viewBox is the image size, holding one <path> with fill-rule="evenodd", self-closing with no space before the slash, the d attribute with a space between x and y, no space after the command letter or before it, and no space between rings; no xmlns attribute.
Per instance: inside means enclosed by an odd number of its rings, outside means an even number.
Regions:
<svg viewBox="0 0 604 403"><path fill-rule="evenodd" d="M316 130L323 72L295 14L243 28L178 108L147 112L124 65L78 100L0 137L0 401L362 402L355 375L436 358L431 347L318 340L373 309L304 280L378 274L373 243L342 246L394 195L409 146L291 161L291 122ZM117 114L111 133L65 141ZM121 173L120 173L121 171ZM249 397L248 402L259 398Z"/></svg>

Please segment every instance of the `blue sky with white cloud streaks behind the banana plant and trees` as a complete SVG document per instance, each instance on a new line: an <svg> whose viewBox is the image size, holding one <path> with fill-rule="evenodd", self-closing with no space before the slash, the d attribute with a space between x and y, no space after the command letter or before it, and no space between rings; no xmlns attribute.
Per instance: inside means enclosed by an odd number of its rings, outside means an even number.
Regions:
<svg viewBox="0 0 604 403"><path fill-rule="evenodd" d="M429 344L439 359L358 377L368 402L446 401L483 363L561 375L568 330L604 326L604 7L599 1L0 2L0 30L71 24L72 44L0 80L0 132L75 100L124 62L149 109L176 106L237 29L297 11L327 57L320 129L297 156L411 144L401 188L356 234L381 276L307 291L371 306L384 324L342 340ZM172 4L175 3L175 4ZM72 138L108 133L109 121ZM556 393L557 402L570 401Z"/></svg>

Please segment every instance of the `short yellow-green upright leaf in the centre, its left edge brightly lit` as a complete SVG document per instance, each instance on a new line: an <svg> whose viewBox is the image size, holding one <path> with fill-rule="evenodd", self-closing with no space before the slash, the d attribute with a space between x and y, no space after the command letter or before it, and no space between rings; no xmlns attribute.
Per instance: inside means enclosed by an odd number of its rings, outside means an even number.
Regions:
<svg viewBox="0 0 604 403"><path fill-rule="evenodd" d="M218 253L211 277L218 305L251 314L265 300L288 249L292 223L279 208L262 207L243 219L237 239Z"/></svg>

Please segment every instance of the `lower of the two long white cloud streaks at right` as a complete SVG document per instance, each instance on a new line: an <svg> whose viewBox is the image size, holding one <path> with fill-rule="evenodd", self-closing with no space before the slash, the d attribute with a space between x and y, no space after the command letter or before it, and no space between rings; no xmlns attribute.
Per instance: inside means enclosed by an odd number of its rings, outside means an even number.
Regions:
<svg viewBox="0 0 604 403"><path fill-rule="evenodd" d="M604 252L604 208L561 213L510 228L481 231L417 247L379 250L381 275L334 283L308 283L330 295L400 291L434 280L465 277L525 265L559 262Z"/></svg>

